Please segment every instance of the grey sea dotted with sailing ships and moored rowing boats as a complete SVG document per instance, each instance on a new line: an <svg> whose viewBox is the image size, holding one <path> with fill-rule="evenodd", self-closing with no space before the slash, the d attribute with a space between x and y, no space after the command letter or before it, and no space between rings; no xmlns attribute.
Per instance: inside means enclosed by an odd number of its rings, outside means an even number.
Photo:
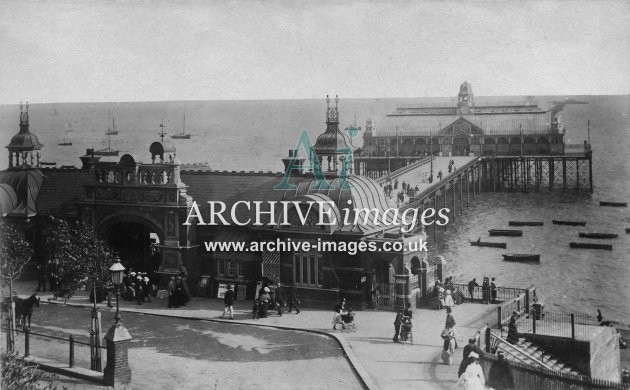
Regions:
<svg viewBox="0 0 630 390"><path fill-rule="evenodd" d="M466 283L473 277L496 277L499 286L536 285L547 310L596 315L630 324L630 210L599 206L600 200L630 201L630 96L503 96L476 98L476 104L537 104L575 99L562 111L567 143L588 138L593 149L592 194L483 193L465 208L456 222L447 225L431 255L445 257L447 275ZM390 113L398 106L454 105L453 98L342 99L340 127L365 127L368 118ZM0 106L0 144L8 145L18 132L18 104ZM113 149L150 162L149 145L158 141L160 124L166 140L177 148L184 164L201 164L215 170L279 172L289 149L302 130L312 141L325 128L325 99L252 101L176 101L132 103L56 103L29 107L31 132L44 144L41 160L57 166L80 166L86 149L108 146L104 134L115 118L119 135L111 137ZM185 130L189 140L170 139ZM363 131L363 130L362 130ZM361 137L354 146L362 146ZM71 146L58 143L71 141ZM6 152L5 152L6 153ZM107 157L103 160L115 160ZM8 153L0 158L6 169ZM585 227L559 226L552 219L587 221ZM523 227L523 237L506 238L509 252L540 253L540 264L504 262L492 248L471 247L469 241L487 237L487 230L505 228L509 220L544 221L542 227ZM577 233L618 233L607 240L612 251L569 249ZM595 241L599 242L599 241Z"/></svg>

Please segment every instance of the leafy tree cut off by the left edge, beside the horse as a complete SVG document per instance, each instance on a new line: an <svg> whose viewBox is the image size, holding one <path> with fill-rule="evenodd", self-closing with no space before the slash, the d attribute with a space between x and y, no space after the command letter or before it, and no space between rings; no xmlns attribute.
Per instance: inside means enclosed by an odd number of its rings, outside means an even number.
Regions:
<svg viewBox="0 0 630 390"><path fill-rule="evenodd" d="M26 263L31 260L33 246L24 233L6 219L0 220L0 275L2 285L12 289L13 281L20 277Z"/></svg>

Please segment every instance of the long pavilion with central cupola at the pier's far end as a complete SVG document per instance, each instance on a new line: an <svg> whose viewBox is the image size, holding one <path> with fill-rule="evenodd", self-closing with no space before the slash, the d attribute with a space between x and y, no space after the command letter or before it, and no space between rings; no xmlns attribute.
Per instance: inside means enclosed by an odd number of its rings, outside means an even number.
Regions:
<svg viewBox="0 0 630 390"><path fill-rule="evenodd" d="M362 156L562 154L562 104L477 105L459 87L453 107L398 107L367 121Z"/></svg>

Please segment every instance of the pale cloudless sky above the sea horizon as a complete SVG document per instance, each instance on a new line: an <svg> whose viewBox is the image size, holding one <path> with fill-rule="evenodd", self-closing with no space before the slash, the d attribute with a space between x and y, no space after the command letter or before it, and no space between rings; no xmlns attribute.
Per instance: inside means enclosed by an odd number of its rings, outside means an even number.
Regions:
<svg viewBox="0 0 630 390"><path fill-rule="evenodd" d="M630 93L627 1L0 0L0 104Z"/></svg>

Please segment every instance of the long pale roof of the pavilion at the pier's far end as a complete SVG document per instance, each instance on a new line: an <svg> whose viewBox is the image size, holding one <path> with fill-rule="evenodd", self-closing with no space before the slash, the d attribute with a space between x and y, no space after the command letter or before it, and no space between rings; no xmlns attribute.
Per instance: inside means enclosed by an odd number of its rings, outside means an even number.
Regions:
<svg viewBox="0 0 630 390"><path fill-rule="evenodd" d="M374 136L428 136L437 135L445 127L463 118L481 128L487 135L550 133L549 112L470 115L385 115L374 118Z"/></svg>

